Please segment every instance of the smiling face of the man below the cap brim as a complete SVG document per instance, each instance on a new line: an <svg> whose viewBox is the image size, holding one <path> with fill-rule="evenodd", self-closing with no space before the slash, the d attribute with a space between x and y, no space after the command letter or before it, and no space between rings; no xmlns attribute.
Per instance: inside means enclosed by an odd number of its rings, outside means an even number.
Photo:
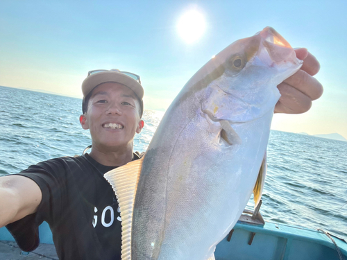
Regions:
<svg viewBox="0 0 347 260"><path fill-rule="evenodd" d="M135 132L144 126L135 93L119 83L96 87L80 121L83 129L90 130L93 148L105 152L133 148Z"/></svg>

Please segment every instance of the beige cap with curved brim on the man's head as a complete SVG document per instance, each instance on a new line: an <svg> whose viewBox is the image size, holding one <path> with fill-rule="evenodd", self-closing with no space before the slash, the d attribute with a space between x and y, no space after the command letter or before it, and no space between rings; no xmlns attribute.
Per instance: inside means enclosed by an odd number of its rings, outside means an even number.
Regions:
<svg viewBox="0 0 347 260"><path fill-rule="evenodd" d="M129 89L133 90L140 101L142 101L142 98L144 98L144 88L142 85L130 76L117 71L101 71L87 76L82 83L83 97L85 98L88 94L90 94L94 87L107 82L123 84Z"/></svg>

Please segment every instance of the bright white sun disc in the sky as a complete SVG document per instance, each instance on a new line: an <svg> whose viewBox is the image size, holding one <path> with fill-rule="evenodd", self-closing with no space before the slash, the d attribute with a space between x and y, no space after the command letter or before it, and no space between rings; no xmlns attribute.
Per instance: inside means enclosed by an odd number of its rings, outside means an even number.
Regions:
<svg viewBox="0 0 347 260"><path fill-rule="evenodd" d="M205 17L194 9L185 12L177 24L178 34L187 44L197 42L205 33L205 27Z"/></svg>

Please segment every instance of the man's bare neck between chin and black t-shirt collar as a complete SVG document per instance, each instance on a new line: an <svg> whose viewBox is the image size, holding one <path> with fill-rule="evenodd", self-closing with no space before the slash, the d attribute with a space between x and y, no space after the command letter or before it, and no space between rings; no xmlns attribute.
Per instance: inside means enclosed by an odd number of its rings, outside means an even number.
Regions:
<svg viewBox="0 0 347 260"><path fill-rule="evenodd" d="M105 166L122 166L133 159L133 146L126 150L101 150L92 146L90 157Z"/></svg>

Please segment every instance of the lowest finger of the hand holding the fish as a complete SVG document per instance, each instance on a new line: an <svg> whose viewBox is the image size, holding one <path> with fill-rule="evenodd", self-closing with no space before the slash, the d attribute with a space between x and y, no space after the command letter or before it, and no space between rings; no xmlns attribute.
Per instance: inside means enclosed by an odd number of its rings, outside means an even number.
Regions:
<svg viewBox="0 0 347 260"><path fill-rule="evenodd" d="M312 100L287 83L278 85L281 97L275 107L276 113L301 114L310 110Z"/></svg>

